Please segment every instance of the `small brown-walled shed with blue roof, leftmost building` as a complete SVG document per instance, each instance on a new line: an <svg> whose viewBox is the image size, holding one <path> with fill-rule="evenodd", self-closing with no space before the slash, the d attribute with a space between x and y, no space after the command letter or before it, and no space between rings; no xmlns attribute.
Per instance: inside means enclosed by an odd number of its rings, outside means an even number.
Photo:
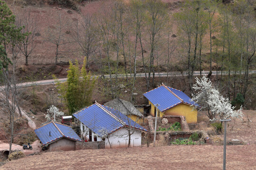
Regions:
<svg viewBox="0 0 256 170"><path fill-rule="evenodd" d="M35 133L49 151L75 151L76 141L82 142L70 126L53 121L38 127Z"/></svg>

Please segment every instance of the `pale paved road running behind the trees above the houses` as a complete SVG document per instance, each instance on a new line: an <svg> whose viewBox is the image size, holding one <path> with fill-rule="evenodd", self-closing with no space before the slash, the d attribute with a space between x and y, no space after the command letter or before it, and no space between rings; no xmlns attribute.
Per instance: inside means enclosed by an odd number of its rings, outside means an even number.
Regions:
<svg viewBox="0 0 256 170"><path fill-rule="evenodd" d="M209 71L203 71L202 74L208 74ZM253 74L256 73L256 70L251 70L249 72L249 74ZM213 71L212 75L216 75L217 71ZM218 71L218 75L220 75L221 72ZM223 75L228 75L228 71L223 71L222 73ZM233 74L233 72L231 72L231 74ZM199 76L200 72L199 71L195 71L194 72L194 76ZM106 78L109 78L109 75L104 75ZM128 75L130 76L130 74ZM133 76L133 75L132 75ZM148 74L147 74L148 76ZM152 74L151 74L152 76ZM164 77L167 76L167 72L163 72L163 73L157 73L155 72L155 76L160 76L160 77ZM169 72L168 76L186 76L186 73L184 73L183 75L180 72ZM93 77L93 76L92 76ZM112 75L112 77L115 77L115 75ZM118 75L119 78L125 77L125 74L119 74ZM145 73L137 73L136 77L145 77ZM99 76L99 78L101 78L101 76ZM67 78L59 78L58 81L60 82L66 82ZM29 86L33 86L33 85L49 85L49 84L53 84L55 83L56 80L51 79L51 80L40 80L40 81L36 81L36 82L26 82L26 83L20 83L18 84L19 87L29 87Z"/></svg>

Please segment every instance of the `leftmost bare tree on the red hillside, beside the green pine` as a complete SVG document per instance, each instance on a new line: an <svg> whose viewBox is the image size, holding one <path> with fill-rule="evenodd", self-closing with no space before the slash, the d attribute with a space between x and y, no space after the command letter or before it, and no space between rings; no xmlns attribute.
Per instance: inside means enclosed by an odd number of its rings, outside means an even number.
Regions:
<svg viewBox="0 0 256 170"><path fill-rule="evenodd" d="M29 33L19 45L19 49L25 56L25 65L28 65L28 58L31 57L32 52L36 48L36 33L38 32L38 25L35 16L31 14L31 9L22 9L16 16L16 25L23 27L21 33Z"/></svg>

